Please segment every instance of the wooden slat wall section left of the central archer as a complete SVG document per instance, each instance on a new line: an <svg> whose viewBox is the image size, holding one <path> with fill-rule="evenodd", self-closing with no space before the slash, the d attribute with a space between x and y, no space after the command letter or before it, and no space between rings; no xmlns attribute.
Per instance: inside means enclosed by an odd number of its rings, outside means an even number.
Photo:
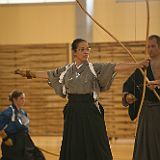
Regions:
<svg viewBox="0 0 160 160"><path fill-rule="evenodd" d="M20 88L26 93L24 109L30 117L31 134L61 134L65 100L55 95L46 80L29 80L13 72L17 68L47 71L65 65L68 63L68 44L3 45L0 46L0 55L1 110L9 103L9 92Z"/></svg>

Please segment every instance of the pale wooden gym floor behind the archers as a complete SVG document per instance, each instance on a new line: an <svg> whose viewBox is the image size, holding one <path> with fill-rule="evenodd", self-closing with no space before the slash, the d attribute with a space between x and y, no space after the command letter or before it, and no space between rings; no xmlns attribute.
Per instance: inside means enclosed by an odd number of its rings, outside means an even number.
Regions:
<svg viewBox="0 0 160 160"><path fill-rule="evenodd" d="M46 151L59 154L61 137L32 137L34 143ZM110 141L113 160L131 160L134 140L118 139ZM44 153L46 160L58 160L57 156Z"/></svg>

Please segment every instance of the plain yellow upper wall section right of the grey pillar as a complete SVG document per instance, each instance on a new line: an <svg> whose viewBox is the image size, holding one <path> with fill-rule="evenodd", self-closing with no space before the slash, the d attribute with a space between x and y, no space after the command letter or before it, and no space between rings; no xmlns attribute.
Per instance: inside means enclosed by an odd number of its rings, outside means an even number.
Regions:
<svg viewBox="0 0 160 160"><path fill-rule="evenodd" d="M116 0L95 0L94 17L119 40L144 40L146 3L116 3ZM149 1L150 34L160 35L160 0ZM94 25L93 41L113 41Z"/></svg>

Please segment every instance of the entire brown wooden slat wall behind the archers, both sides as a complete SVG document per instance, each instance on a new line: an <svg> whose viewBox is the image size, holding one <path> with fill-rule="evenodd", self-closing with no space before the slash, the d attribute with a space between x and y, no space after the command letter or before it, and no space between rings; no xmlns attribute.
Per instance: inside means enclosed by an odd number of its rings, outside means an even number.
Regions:
<svg viewBox="0 0 160 160"><path fill-rule="evenodd" d="M144 58L144 42L124 42L136 59ZM91 43L91 62L133 62L117 43ZM1 45L0 46L0 110L8 104L8 94L20 88L26 93L24 109L30 117L32 135L62 135L63 106L66 103L55 95L42 79L26 79L14 74L17 68L52 70L69 61L69 44ZM100 96L105 109L105 122L109 137L133 137L135 123L127 109L121 105L122 83L129 72L118 74L110 90Z"/></svg>

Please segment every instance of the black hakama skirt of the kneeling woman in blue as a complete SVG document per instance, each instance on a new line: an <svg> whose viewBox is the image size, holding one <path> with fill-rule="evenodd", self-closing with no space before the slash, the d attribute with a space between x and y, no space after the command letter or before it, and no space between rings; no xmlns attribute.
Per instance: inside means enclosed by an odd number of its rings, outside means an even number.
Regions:
<svg viewBox="0 0 160 160"><path fill-rule="evenodd" d="M30 135L20 131L12 136L13 146L1 144L1 160L45 160L43 153L34 145Z"/></svg>

